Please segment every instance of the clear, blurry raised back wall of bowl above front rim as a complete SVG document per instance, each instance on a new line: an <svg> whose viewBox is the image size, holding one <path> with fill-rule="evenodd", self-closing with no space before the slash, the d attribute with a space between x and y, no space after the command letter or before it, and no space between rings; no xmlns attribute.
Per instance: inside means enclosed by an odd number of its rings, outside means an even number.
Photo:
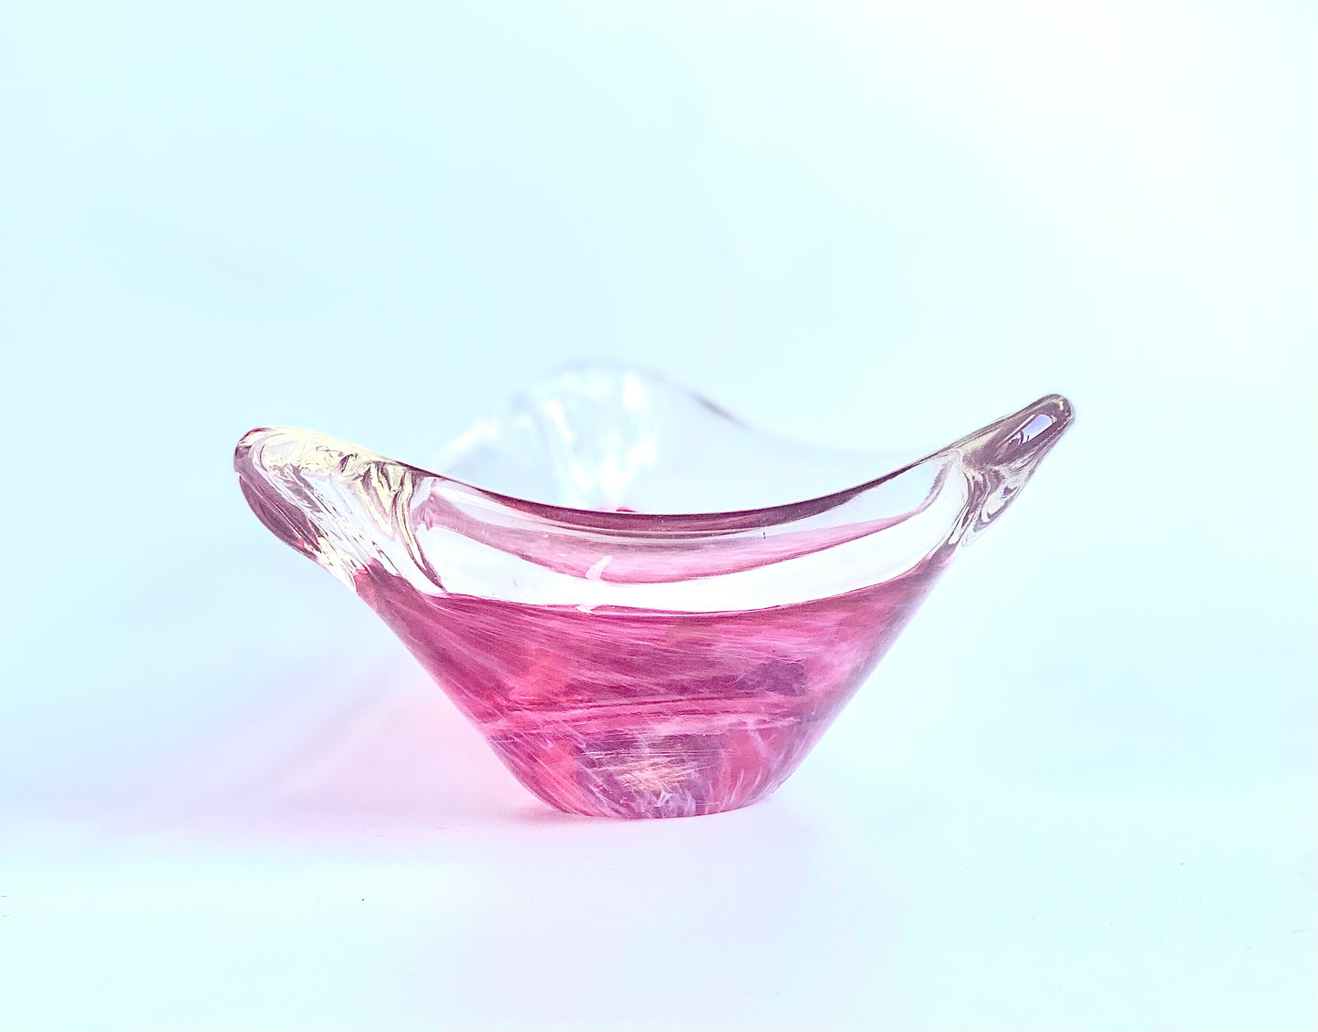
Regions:
<svg viewBox="0 0 1318 1032"><path fill-rule="evenodd" d="M534 502L673 514L817 498L915 457L782 440L654 373L589 366L517 395L431 468Z"/></svg>

